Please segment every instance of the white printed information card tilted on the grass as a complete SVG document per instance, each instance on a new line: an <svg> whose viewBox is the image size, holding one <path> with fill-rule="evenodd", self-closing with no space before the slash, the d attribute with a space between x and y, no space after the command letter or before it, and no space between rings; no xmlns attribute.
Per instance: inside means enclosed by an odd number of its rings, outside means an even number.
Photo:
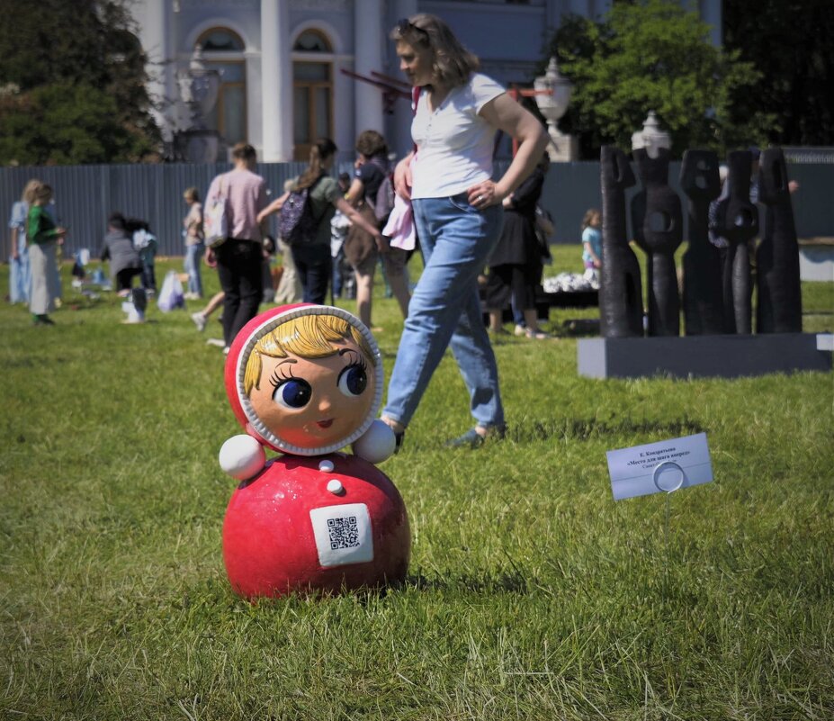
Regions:
<svg viewBox="0 0 834 721"><path fill-rule="evenodd" d="M614 500L671 493L713 480L705 433L620 448L605 455Z"/></svg>

